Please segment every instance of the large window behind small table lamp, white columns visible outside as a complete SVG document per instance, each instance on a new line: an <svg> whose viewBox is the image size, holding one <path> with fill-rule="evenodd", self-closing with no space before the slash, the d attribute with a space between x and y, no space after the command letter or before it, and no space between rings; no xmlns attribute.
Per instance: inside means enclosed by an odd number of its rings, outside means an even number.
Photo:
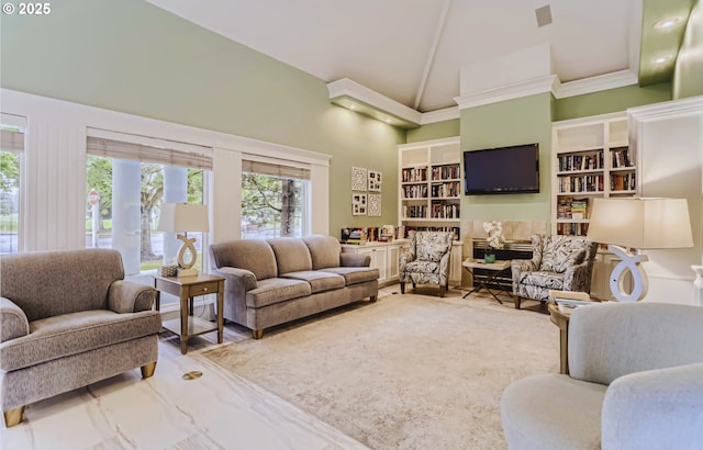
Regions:
<svg viewBox="0 0 703 450"><path fill-rule="evenodd" d="M137 142L149 142L136 137ZM86 189L86 247L116 248L126 274L138 274L175 259L181 241L175 233L156 230L163 203L204 203L212 159L196 150L166 148L138 143L88 137ZM183 144L171 143L182 147ZM93 195L90 193L93 192ZM97 193L97 200L96 195ZM94 203L94 204L93 204ZM202 270L201 233L197 238Z"/></svg>

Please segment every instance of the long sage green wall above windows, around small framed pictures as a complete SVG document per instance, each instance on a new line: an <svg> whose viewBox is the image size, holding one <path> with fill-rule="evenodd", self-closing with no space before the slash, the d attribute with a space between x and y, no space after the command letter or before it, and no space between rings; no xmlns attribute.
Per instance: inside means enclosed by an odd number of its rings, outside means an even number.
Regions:
<svg viewBox="0 0 703 450"><path fill-rule="evenodd" d="M330 232L397 222L405 132L332 105L325 81L142 0L2 15L0 86L332 155ZM383 173L381 217L352 216L352 167Z"/></svg>

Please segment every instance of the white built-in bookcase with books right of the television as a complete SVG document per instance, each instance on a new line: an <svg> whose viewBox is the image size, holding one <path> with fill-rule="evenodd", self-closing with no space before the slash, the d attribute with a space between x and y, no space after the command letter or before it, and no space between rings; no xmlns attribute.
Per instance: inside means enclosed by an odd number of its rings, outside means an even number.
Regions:
<svg viewBox="0 0 703 450"><path fill-rule="evenodd" d="M625 113L553 124L553 233L588 233L594 198L637 193L636 155Z"/></svg>

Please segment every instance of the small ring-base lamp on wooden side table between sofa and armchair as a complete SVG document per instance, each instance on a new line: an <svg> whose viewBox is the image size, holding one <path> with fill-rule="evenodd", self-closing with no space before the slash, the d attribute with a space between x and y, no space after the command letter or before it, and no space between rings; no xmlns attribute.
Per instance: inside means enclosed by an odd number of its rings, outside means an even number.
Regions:
<svg viewBox="0 0 703 450"><path fill-rule="evenodd" d="M158 218L157 229L170 233L183 233L176 237L183 241L178 250L178 277L193 277L198 270L192 267L198 259L196 238L188 238L188 232L209 232L208 206L204 204L164 203ZM189 257L186 258L186 254Z"/></svg>

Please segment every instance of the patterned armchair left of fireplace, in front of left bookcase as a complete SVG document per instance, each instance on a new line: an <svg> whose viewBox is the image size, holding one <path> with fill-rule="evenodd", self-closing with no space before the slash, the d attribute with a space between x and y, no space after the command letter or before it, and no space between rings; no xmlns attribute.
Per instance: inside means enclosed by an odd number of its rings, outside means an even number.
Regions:
<svg viewBox="0 0 703 450"><path fill-rule="evenodd" d="M400 255L400 292L405 283L438 284L439 296L449 289L451 232L410 232L410 247Z"/></svg>

